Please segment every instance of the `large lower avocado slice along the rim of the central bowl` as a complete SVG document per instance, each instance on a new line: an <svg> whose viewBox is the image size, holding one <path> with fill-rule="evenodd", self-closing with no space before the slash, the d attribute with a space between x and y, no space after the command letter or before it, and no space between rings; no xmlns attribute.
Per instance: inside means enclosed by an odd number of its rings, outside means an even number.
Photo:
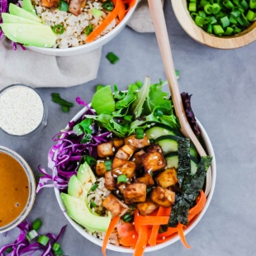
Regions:
<svg viewBox="0 0 256 256"><path fill-rule="evenodd" d="M111 222L111 213L108 213L108 216L96 216L93 215L85 202L78 198L72 197L68 194L61 193L60 197L64 202L64 206L67 210L69 216L78 222L78 224L83 225L90 231L106 232L108 226Z"/></svg>

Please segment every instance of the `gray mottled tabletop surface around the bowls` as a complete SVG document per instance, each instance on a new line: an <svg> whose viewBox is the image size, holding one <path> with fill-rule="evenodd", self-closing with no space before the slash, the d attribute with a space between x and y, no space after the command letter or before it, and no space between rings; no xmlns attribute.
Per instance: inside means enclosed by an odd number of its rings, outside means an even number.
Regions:
<svg viewBox="0 0 256 256"><path fill-rule="evenodd" d="M199 45L178 25L170 2L164 11L173 49L173 60L180 71L181 92L192 96L192 108L206 128L216 153L216 191L206 215L187 235L192 249L180 241L159 250L167 255L255 255L256 212L256 43L237 50L216 50ZM113 51L120 61L109 64L105 56ZM72 75L72 74L71 74ZM128 83L153 82L165 78L159 48L154 34L139 34L126 28L103 47L97 79L73 88L40 88L49 109L48 125L30 139L14 138L0 130L0 145L21 154L38 174L37 166L47 166L47 153L53 144L51 137L81 109L75 106L63 113L51 102L50 93L60 92L74 102L80 96L90 102L97 83L116 83L126 89ZM54 79L54 78L53 78ZM59 232L68 221L59 210L53 189L37 195L30 220L44 221L41 232ZM7 237L0 235L0 246L11 242L16 231ZM69 256L101 255L101 248L84 239L68 226L62 239L64 253ZM156 252L147 255L156 255ZM107 255L126 255L107 251Z"/></svg>

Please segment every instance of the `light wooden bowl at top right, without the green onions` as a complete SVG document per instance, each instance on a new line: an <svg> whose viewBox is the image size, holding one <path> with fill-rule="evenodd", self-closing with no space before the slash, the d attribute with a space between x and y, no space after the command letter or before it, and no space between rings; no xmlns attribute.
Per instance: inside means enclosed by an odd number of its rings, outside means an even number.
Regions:
<svg viewBox="0 0 256 256"><path fill-rule="evenodd" d="M208 45L218 49L235 49L244 45L249 45L256 40L256 21L248 29L235 36L214 36L203 31L193 21L187 10L187 0L171 0L173 11L179 24L194 40L202 45Z"/></svg>

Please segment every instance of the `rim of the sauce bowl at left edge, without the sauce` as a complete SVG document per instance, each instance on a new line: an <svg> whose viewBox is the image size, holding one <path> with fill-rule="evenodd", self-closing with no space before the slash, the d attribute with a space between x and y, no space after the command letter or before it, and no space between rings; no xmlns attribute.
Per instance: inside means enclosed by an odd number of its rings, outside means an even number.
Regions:
<svg viewBox="0 0 256 256"><path fill-rule="evenodd" d="M36 199L36 181L34 174L31 170L29 164L26 163L26 160L21 157L20 154L17 154L12 149L7 149L0 145L0 153L7 154L13 159L15 159L23 168L24 172L26 173L26 178L28 179L28 198L26 201L26 206L21 211L21 214L17 216L15 220L12 220L11 223L0 227L0 233L6 232L7 230L12 230L17 225L21 223L22 220L25 220L26 216L30 213L32 206L34 205L34 201Z"/></svg>

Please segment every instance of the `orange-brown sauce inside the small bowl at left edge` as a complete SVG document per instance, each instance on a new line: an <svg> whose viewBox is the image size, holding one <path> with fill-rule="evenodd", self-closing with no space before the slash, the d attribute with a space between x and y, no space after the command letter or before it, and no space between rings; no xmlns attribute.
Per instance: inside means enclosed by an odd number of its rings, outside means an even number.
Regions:
<svg viewBox="0 0 256 256"><path fill-rule="evenodd" d="M25 209L30 186L25 169L11 155L0 151L0 228L16 220Z"/></svg>

